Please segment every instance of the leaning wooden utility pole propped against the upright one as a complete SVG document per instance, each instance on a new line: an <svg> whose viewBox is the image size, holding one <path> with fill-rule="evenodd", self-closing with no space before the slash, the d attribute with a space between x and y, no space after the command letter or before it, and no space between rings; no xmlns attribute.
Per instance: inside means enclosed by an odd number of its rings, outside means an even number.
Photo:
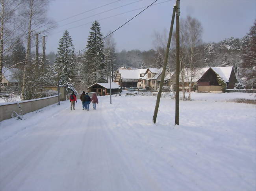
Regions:
<svg viewBox="0 0 256 191"><path fill-rule="evenodd" d="M156 117L157 117L157 114L158 114L158 108L159 108L159 103L160 103L161 93L162 93L162 88L163 88L163 81L164 81L164 78L165 78L165 70L166 70L166 66L167 66L170 44L171 44L171 39L172 39L172 34L173 34L173 24L174 24L175 11L176 11L176 6L173 7L173 17L172 17L172 21L171 21L169 38L168 38L166 52L165 52L165 60L163 62L163 71L162 71L162 74L161 74L160 87L159 87L159 91L158 91L157 99L156 99L156 106L155 106L155 111L154 111L154 116L153 116L153 121L154 121L155 124L156 124Z"/></svg>

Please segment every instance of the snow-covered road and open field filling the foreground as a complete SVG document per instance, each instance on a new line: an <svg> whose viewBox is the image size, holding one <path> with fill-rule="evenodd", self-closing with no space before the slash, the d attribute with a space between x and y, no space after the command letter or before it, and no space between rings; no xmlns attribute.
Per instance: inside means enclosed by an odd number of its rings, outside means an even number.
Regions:
<svg viewBox="0 0 256 191"><path fill-rule="evenodd" d="M0 122L1 191L255 191L256 105L247 93L98 97Z"/></svg>

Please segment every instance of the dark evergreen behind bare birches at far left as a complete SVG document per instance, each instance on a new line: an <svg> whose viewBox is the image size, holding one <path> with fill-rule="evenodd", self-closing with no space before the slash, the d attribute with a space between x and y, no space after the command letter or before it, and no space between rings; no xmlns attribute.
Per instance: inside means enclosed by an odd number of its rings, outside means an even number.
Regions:
<svg viewBox="0 0 256 191"><path fill-rule="evenodd" d="M17 64L26 59L26 48L24 47L20 38L18 38L15 42L15 46L12 51L12 62L13 64ZM18 64L17 67L23 66L23 64Z"/></svg>

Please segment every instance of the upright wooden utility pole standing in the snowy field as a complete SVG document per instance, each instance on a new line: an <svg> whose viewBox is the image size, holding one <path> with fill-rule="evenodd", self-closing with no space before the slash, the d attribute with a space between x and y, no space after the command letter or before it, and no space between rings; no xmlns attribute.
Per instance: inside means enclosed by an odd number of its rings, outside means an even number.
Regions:
<svg viewBox="0 0 256 191"><path fill-rule="evenodd" d="M175 124L179 125L180 110L180 0L176 0L176 93Z"/></svg>

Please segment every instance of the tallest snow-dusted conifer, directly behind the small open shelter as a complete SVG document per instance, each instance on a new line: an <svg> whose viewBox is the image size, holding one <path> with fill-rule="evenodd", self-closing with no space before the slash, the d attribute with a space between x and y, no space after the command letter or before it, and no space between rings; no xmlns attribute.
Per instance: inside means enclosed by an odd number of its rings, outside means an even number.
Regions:
<svg viewBox="0 0 256 191"><path fill-rule="evenodd" d="M100 32L100 24L95 20L87 39L83 57L83 82L87 85L95 82L106 82L106 62L104 57L104 42ZM85 79L86 78L86 79Z"/></svg>

